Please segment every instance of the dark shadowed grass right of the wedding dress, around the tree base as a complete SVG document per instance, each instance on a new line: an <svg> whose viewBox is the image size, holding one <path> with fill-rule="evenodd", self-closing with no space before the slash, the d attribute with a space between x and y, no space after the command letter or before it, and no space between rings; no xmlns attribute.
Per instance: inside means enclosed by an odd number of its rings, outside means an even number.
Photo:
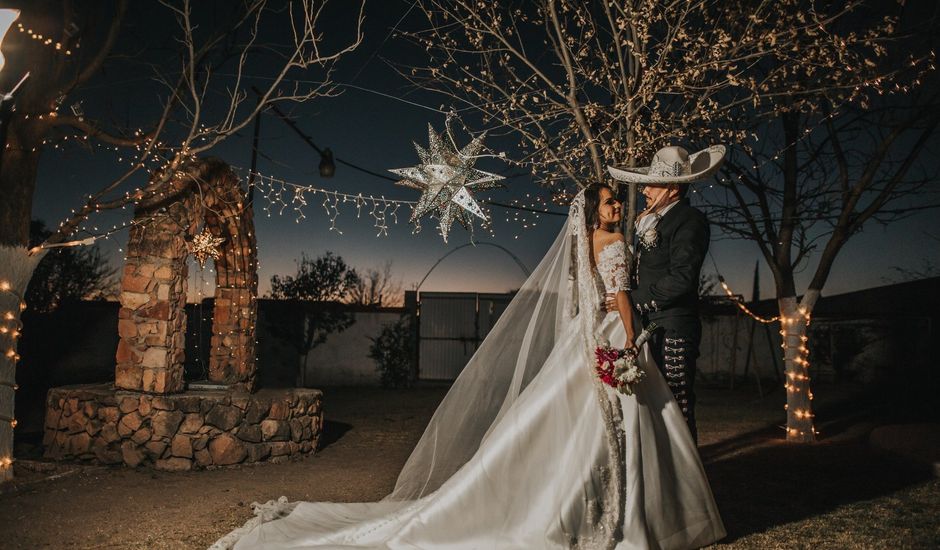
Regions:
<svg viewBox="0 0 940 550"><path fill-rule="evenodd" d="M701 393L700 450L728 530L713 548L940 547L940 480L868 446L867 394L823 388L819 440L791 444L782 392Z"/></svg>

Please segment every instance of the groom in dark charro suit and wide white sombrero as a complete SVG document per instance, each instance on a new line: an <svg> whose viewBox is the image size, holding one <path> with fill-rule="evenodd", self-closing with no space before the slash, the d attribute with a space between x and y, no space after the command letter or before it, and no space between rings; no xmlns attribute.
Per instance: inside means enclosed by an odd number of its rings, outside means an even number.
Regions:
<svg viewBox="0 0 940 550"><path fill-rule="evenodd" d="M639 184L646 198L636 222L630 297L644 326L655 322L662 327L649 340L650 352L696 442L695 360L702 337L698 285L710 233L705 215L687 195L691 182L718 169L724 153L721 145L693 155L664 147L648 168L608 167L615 179Z"/></svg>

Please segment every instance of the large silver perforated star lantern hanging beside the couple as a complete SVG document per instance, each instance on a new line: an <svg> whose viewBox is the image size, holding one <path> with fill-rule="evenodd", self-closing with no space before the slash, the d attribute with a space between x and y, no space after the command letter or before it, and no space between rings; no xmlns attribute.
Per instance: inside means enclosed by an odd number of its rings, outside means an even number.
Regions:
<svg viewBox="0 0 940 550"><path fill-rule="evenodd" d="M450 127L448 115L448 128ZM483 149L483 135L479 135L457 151L450 139L450 134L438 134L428 124L428 148L414 144L421 164L412 168L389 170L404 179L398 185L421 191L421 197L411 214L411 223L420 227L418 219L425 214L436 215L440 220L441 236L447 242L447 235L454 221L464 228L473 225L473 217L484 221L488 218L477 204L470 189L485 190L502 187L498 183L503 176L477 170L473 167ZM472 215L472 216L471 216Z"/></svg>

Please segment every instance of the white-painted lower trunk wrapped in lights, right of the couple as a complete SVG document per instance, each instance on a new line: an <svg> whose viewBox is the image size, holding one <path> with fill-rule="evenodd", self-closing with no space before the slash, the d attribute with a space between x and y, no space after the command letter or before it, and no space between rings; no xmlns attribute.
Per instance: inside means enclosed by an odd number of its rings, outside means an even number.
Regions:
<svg viewBox="0 0 940 550"><path fill-rule="evenodd" d="M786 373L787 441L806 443L816 440L807 328L818 298L818 290L808 290L799 303L795 296L777 300Z"/></svg>

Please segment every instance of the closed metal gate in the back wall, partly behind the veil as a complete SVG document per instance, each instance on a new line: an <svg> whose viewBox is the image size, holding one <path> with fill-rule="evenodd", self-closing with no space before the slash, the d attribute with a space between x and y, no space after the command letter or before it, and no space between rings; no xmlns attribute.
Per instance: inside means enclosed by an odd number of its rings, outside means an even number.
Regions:
<svg viewBox="0 0 940 550"><path fill-rule="evenodd" d="M457 378L512 297L422 292L418 302L418 378Z"/></svg>

